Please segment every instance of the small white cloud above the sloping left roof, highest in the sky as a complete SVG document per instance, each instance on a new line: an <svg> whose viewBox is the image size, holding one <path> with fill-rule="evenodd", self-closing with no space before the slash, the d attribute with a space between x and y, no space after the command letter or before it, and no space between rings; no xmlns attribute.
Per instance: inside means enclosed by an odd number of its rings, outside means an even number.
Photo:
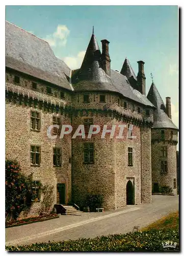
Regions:
<svg viewBox="0 0 184 256"><path fill-rule="evenodd" d="M53 34L46 35L46 37L43 39L47 41L50 46L65 46L69 33L70 31L66 25L58 25Z"/></svg>

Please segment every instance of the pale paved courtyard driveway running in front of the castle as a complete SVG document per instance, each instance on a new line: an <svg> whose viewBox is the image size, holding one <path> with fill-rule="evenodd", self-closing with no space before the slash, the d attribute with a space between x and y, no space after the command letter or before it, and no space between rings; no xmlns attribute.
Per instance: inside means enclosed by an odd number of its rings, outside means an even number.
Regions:
<svg viewBox="0 0 184 256"><path fill-rule="evenodd" d="M36 242L75 240L126 233L140 228L178 210L179 197L152 196L151 204L128 205L106 212L80 212L58 219L6 228L6 245L24 245Z"/></svg>

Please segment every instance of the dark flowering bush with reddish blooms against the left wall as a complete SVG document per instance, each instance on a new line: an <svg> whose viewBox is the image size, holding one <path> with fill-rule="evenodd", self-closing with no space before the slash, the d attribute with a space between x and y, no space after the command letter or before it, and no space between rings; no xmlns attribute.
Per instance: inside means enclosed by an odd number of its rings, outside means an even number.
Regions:
<svg viewBox="0 0 184 256"><path fill-rule="evenodd" d="M32 203L32 176L25 177L20 173L20 165L16 160L6 160L5 189L6 217L17 219L20 212Z"/></svg>

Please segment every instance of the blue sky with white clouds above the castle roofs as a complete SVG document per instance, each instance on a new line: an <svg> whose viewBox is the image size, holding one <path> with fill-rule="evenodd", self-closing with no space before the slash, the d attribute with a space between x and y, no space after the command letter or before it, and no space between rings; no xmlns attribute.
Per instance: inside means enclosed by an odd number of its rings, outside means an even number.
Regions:
<svg viewBox="0 0 184 256"><path fill-rule="evenodd" d="M6 20L46 39L55 55L79 68L94 26L110 41L111 68L121 70L127 57L135 74L145 62L146 92L152 72L165 101L171 97L172 119L178 126L177 6L6 6Z"/></svg>

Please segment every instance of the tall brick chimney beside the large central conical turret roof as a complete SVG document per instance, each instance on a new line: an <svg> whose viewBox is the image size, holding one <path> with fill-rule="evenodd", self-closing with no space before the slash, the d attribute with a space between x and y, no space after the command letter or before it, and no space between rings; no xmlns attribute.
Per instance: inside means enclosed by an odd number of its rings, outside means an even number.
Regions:
<svg viewBox="0 0 184 256"><path fill-rule="evenodd" d="M102 60L102 69L106 72L107 75L111 75L111 59L109 56L109 41L107 39L101 40L102 44L102 53L101 53L101 60Z"/></svg>

